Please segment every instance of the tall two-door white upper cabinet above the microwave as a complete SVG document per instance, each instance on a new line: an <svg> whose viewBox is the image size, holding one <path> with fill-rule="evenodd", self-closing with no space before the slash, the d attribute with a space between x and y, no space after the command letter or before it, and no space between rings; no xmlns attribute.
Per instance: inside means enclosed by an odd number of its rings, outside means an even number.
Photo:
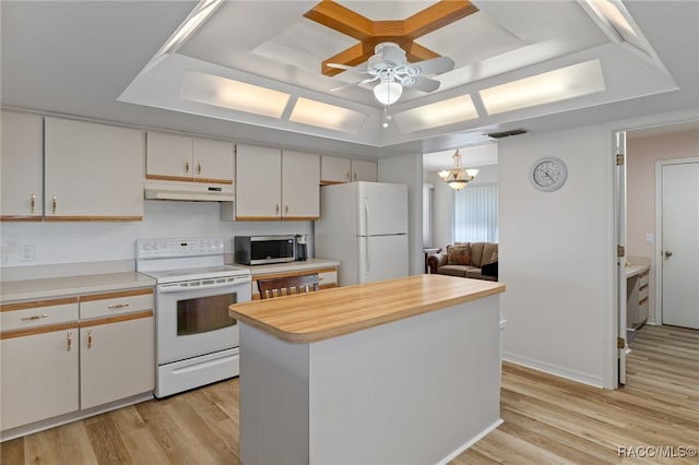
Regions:
<svg viewBox="0 0 699 465"><path fill-rule="evenodd" d="M236 219L316 219L320 155L238 144Z"/></svg>

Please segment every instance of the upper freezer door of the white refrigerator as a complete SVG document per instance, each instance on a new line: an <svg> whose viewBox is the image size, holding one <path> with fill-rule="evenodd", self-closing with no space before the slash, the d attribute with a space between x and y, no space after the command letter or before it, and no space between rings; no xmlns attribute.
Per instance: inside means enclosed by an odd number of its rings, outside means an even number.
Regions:
<svg viewBox="0 0 699 465"><path fill-rule="evenodd" d="M358 187L359 236L407 234L405 184L359 182Z"/></svg>

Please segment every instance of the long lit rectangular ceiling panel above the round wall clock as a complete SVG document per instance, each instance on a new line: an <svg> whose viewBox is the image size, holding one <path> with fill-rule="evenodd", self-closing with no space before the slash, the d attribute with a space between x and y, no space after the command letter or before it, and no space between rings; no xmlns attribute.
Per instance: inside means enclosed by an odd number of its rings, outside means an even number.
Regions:
<svg viewBox="0 0 699 465"><path fill-rule="evenodd" d="M590 60L479 92L488 115L605 91L599 60Z"/></svg>

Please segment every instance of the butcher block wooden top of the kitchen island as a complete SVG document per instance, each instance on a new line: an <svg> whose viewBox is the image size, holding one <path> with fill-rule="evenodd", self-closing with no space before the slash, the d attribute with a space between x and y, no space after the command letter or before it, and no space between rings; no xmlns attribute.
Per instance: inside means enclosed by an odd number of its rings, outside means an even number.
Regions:
<svg viewBox="0 0 699 465"><path fill-rule="evenodd" d="M229 314L283 341L308 344L502 291L500 283L424 274L234 303Z"/></svg>

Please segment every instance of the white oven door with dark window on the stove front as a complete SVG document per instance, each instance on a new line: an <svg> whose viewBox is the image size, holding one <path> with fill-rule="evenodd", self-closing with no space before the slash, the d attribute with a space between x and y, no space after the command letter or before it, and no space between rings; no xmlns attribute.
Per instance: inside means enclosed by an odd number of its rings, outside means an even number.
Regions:
<svg viewBox="0 0 699 465"><path fill-rule="evenodd" d="M164 365L238 347L228 306L250 300L250 277L234 283L161 284L156 294L156 357Z"/></svg>

